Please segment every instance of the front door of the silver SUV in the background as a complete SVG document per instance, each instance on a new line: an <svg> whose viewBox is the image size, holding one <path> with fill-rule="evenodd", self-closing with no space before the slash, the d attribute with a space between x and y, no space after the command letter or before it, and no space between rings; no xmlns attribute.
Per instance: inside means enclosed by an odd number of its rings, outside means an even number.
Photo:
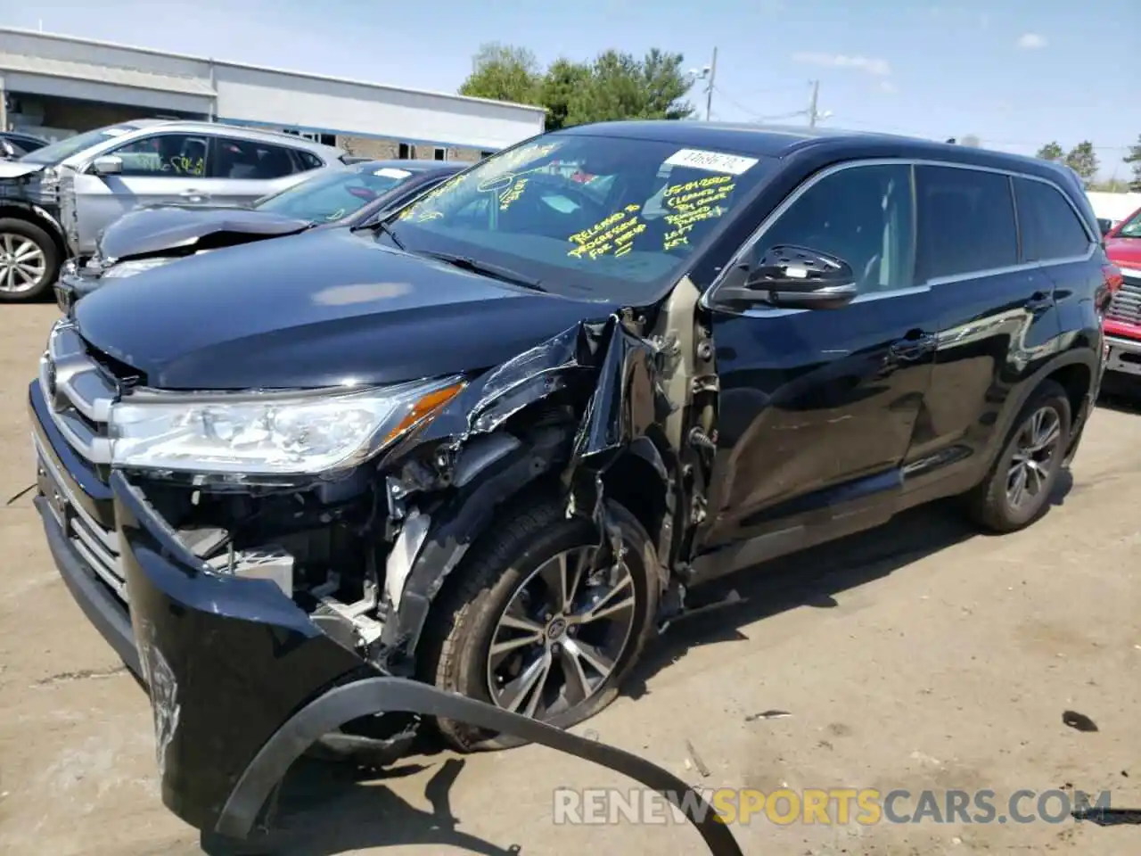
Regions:
<svg viewBox="0 0 1141 856"><path fill-rule="evenodd" d="M98 176L90 165L75 176L78 252L90 256L99 233L139 205L204 204L210 201L208 138L152 134L104 152L122 161L122 172Z"/></svg>

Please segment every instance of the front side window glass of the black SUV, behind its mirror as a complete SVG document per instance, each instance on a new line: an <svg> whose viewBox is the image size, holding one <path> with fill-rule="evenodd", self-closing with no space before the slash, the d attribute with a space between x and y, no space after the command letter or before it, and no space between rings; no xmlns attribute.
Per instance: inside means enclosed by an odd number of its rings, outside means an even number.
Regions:
<svg viewBox="0 0 1141 856"><path fill-rule="evenodd" d="M849 167L814 184L760 236L760 255L793 244L837 256L860 293L914 284L914 195L907 164Z"/></svg>

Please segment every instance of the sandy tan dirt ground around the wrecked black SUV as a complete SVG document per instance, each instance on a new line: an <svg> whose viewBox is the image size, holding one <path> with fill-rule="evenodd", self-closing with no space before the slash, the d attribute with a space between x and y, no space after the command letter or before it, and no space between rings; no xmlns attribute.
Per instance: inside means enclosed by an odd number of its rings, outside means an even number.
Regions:
<svg viewBox="0 0 1141 856"><path fill-rule="evenodd" d="M55 310L0 313L2 500L32 479L24 390ZM989 788L1002 807L1073 785L1141 808L1139 438L1141 413L1099 409L1073 483L1027 532L978 536L930 509L736 581L747 603L671 631L590 728L707 786ZM160 802L146 698L57 579L29 495L0 511L0 853L197 853ZM750 719L774 709L792 716ZM704 853L683 826L552 824L553 789L612 785L628 783L525 748L383 780L309 765L284 799L299 855ZM1069 821L736 832L766 856L1141 853L1139 826Z"/></svg>

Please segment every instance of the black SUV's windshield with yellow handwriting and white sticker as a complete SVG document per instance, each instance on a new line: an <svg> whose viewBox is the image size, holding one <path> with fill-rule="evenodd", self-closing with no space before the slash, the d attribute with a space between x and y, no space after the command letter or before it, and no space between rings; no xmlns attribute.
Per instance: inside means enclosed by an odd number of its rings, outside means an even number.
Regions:
<svg viewBox="0 0 1141 856"><path fill-rule="evenodd" d="M758 160L552 134L448 179L389 225L410 252L496 264L576 297L648 302L747 199L764 172Z"/></svg>

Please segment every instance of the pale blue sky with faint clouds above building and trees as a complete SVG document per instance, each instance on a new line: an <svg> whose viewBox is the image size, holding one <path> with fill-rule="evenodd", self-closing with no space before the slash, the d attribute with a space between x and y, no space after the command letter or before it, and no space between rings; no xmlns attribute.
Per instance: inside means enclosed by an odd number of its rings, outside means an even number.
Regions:
<svg viewBox="0 0 1141 856"><path fill-rule="evenodd" d="M1026 154L1090 139L1103 178L1128 176L1141 135L1136 0L0 0L0 25L436 91L455 91L491 41L543 64L656 47L697 70L717 48L715 120L802 122L790 114L818 80L830 126Z"/></svg>

